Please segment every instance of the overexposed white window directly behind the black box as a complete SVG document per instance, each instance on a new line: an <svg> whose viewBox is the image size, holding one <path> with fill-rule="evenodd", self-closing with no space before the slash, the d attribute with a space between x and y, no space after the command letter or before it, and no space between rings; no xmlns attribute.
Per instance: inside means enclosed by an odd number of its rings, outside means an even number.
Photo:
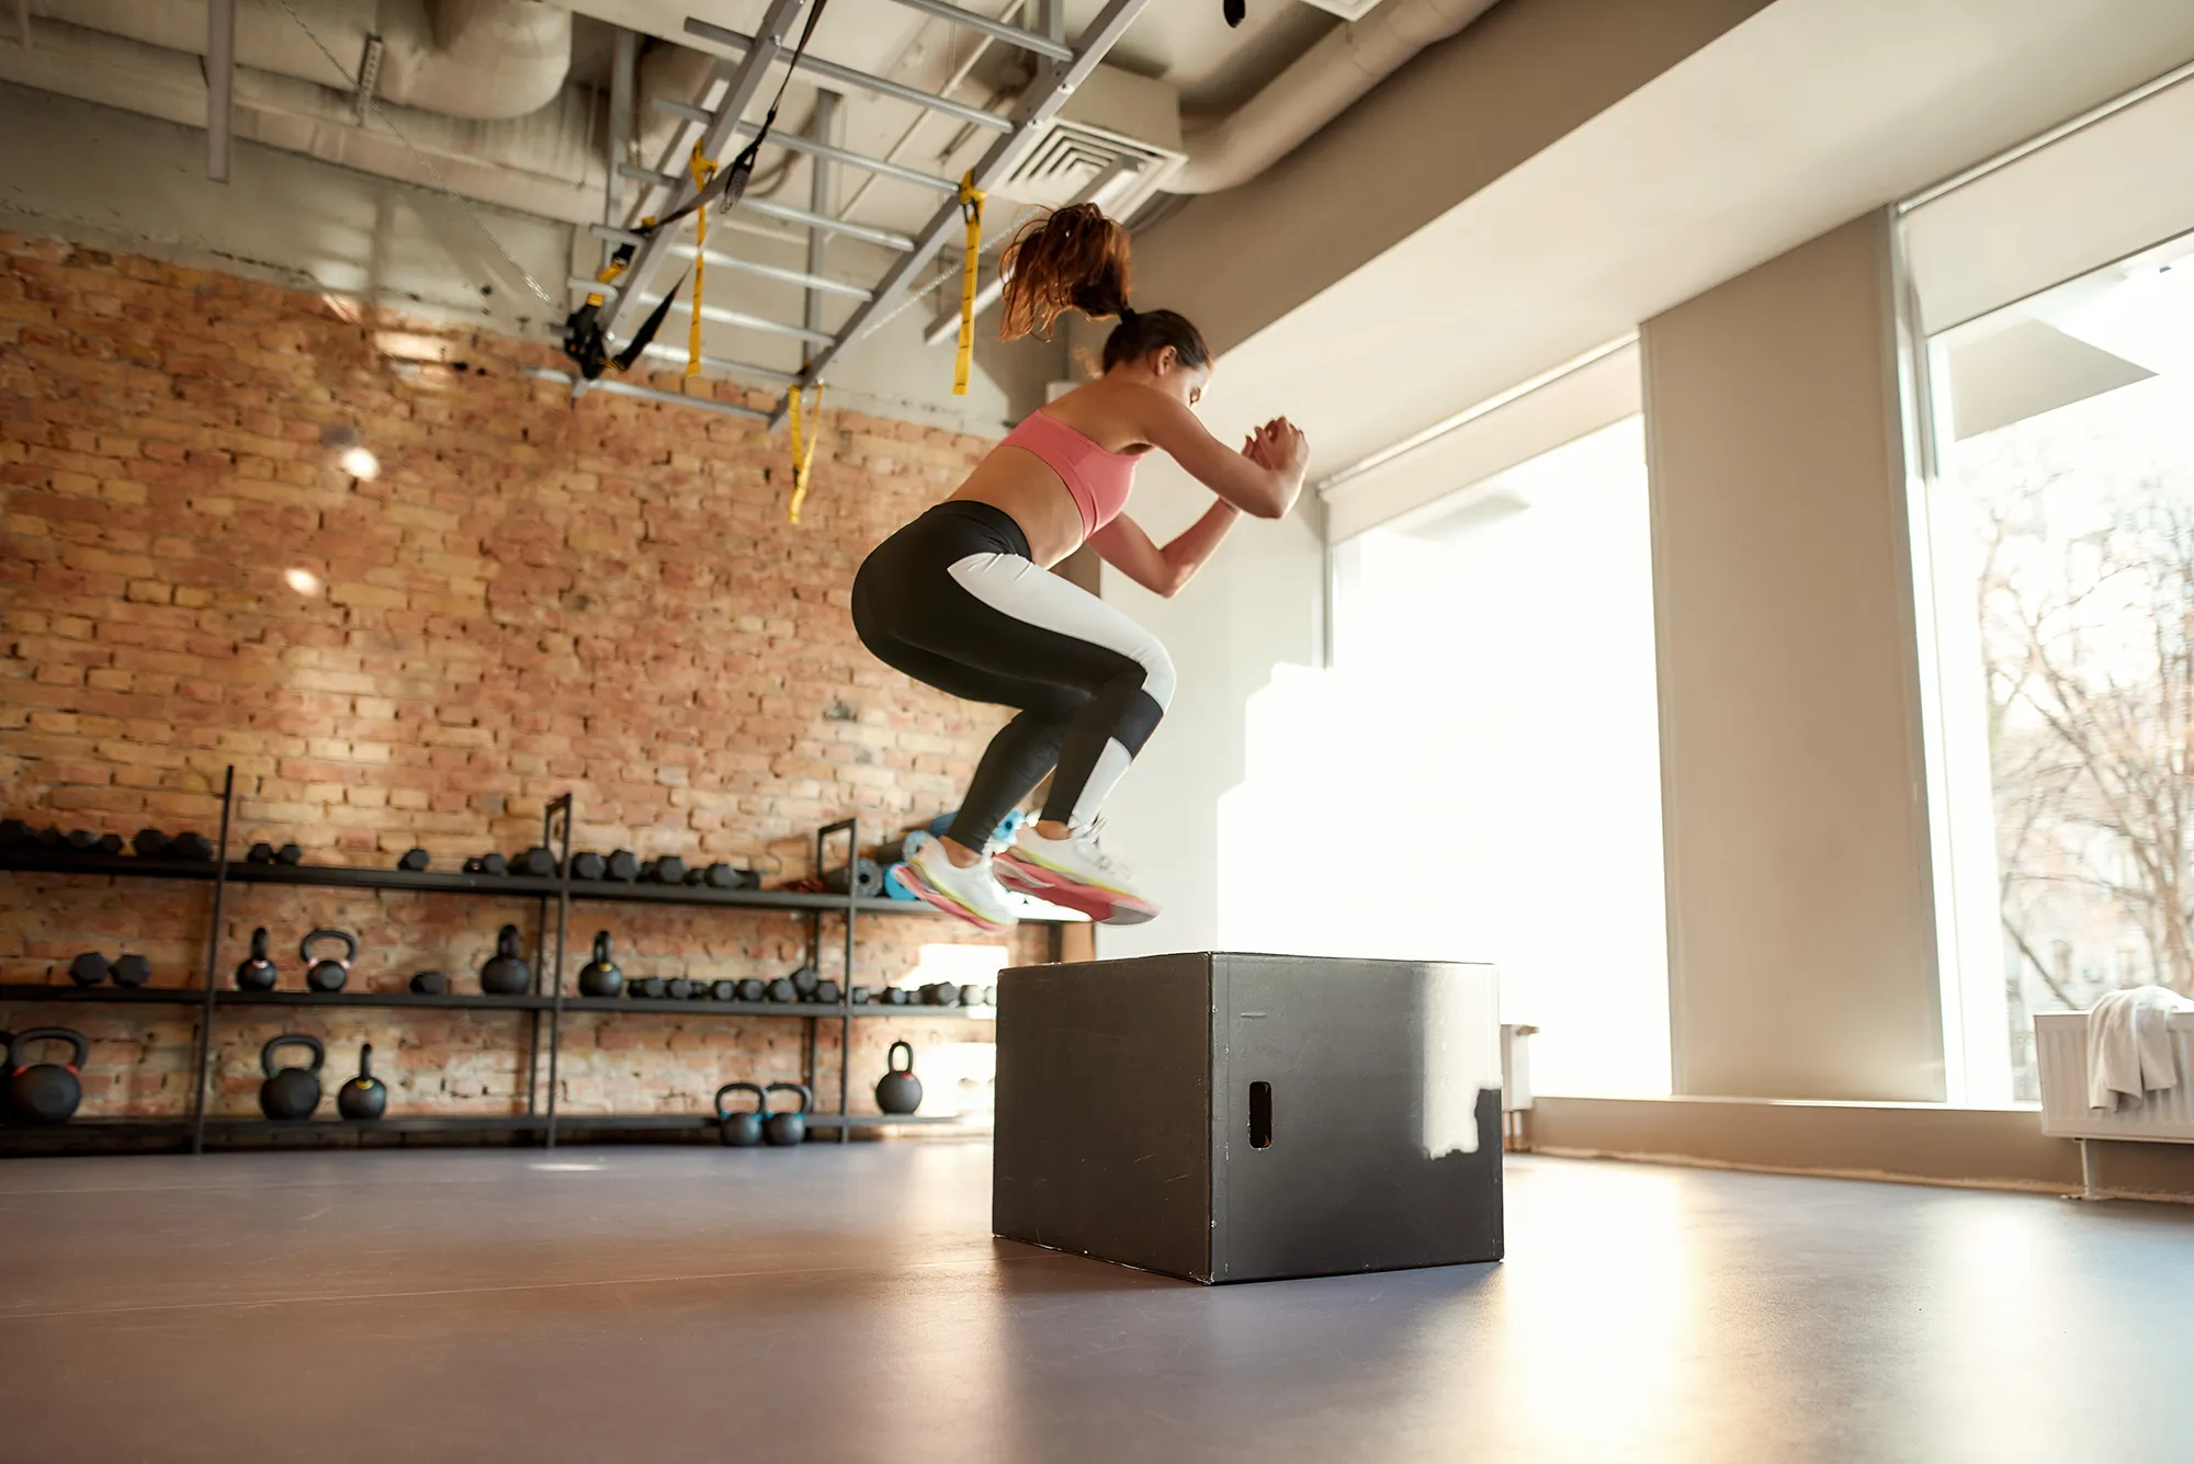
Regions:
<svg viewBox="0 0 2194 1464"><path fill-rule="evenodd" d="M1494 962L1540 1091L1667 1094L1639 419L1356 535L1334 581L1332 671L1251 706L1222 938Z"/></svg>

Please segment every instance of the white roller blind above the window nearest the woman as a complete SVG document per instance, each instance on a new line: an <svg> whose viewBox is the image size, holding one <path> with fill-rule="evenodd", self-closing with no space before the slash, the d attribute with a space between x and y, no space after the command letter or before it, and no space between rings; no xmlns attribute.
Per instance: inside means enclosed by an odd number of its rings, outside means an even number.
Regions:
<svg viewBox="0 0 2194 1464"><path fill-rule="evenodd" d="M1621 346L1323 491L1325 537L1354 539L1639 412L1639 348Z"/></svg>

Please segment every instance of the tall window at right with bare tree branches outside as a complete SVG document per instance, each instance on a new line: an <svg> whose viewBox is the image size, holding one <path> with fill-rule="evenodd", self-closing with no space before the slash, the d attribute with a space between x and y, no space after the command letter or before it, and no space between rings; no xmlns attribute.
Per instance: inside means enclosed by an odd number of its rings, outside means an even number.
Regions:
<svg viewBox="0 0 2194 1464"><path fill-rule="evenodd" d="M1935 333L1926 381L1966 1096L2032 1102L2036 1010L2194 995L2194 237Z"/></svg>

